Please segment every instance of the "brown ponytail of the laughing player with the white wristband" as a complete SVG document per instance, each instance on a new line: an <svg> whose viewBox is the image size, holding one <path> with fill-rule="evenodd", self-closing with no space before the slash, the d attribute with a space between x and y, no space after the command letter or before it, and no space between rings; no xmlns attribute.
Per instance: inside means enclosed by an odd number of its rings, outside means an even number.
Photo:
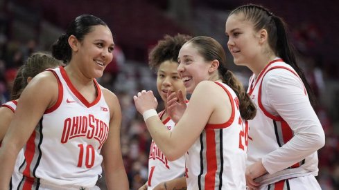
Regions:
<svg viewBox="0 0 339 190"><path fill-rule="evenodd" d="M223 66L221 66L220 68L223 68ZM220 71L221 70L222 69L220 69ZM223 82L232 88L239 99L239 109L241 117L244 120L252 120L257 113L257 107L254 105L250 97L245 92L245 89L243 88L241 82L236 79L231 70L227 70L225 73L220 72L220 74L223 74Z"/></svg>

